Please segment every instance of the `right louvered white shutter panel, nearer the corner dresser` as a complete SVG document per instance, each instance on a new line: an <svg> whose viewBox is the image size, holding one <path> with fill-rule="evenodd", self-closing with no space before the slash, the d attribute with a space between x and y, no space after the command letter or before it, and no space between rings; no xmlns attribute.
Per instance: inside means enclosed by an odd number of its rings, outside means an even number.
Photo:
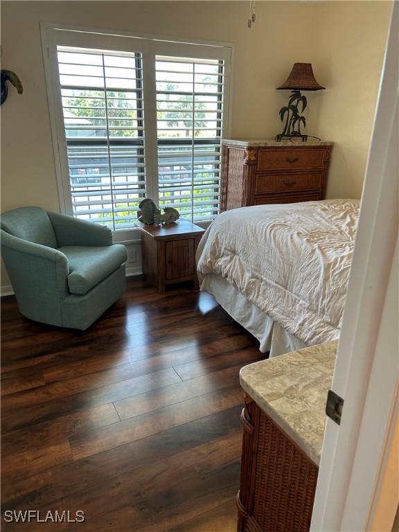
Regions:
<svg viewBox="0 0 399 532"><path fill-rule="evenodd" d="M181 218L219 211L224 60L157 55L159 205Z"/></svg>

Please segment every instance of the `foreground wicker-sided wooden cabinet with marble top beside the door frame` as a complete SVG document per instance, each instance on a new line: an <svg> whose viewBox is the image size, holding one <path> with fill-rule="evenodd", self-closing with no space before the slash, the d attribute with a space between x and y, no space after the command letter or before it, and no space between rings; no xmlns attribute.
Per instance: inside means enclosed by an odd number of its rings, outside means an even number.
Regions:
<svg viewBox="0 0 399 532"><path fill-rule="evenodd" d="M245 366L238 532L308 532L337 342Z"/></svg>

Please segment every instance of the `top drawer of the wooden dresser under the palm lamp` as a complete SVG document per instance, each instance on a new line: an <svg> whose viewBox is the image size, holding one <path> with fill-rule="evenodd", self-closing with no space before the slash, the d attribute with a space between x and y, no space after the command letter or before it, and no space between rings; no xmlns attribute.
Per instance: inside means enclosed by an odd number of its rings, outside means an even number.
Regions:
<svg viewBox="0 0 399 532"><path fill-rule="evenodd" d="M292 168L322 168L323 149L259 150L258 170L290 170Z"/></svg>

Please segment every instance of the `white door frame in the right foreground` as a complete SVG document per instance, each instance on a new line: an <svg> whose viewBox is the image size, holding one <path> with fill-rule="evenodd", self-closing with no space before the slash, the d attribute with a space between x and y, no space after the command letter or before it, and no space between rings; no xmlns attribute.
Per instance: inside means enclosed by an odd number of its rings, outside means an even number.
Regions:
<svg viewBox="0 0 399 532"><path fill-rule="evenodd" d="M393 2L380 94L332 390L341 424L328 419L311 530L373 529L380 471L398 387L399 6ZM398 486L398 483L396 483ZM393 494L398 497L398 494ZM387 522L393 522L395 503ZM391 530L391 528L387 529ZM381 531L382 532L382 531Z"/></svg>

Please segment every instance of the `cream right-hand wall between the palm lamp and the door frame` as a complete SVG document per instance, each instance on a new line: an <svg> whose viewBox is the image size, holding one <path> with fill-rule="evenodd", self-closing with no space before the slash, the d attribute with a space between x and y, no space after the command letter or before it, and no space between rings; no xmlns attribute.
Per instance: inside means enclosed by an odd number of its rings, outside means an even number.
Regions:
<svg viewBox="0 0 399 532"><path fill-rule="evenodd" d="M327 1L315 12L308 57L327 90L314 98L310 127L335 142L327 197L360 197L391 2Z"/></svg>

